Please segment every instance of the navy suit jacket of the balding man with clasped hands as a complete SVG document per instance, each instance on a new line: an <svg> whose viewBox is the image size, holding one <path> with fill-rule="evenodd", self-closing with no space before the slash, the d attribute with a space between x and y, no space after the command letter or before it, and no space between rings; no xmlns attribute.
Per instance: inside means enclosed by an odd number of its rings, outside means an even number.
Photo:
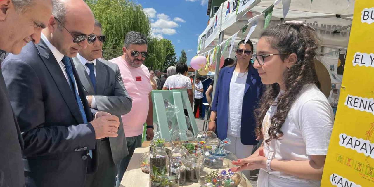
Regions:
<svg viewBox="0 0 374 187"><path fill-rule="evenodd" d="M91 123L83 123L75 96L45 42L30 42L20 54L7 56L2 73L24 138L26 186L84 186L86 174L95 168L95 132ZM74 64L73 74L90 122L92 113ZM90 149L93 159L87 156Z"/></svg>

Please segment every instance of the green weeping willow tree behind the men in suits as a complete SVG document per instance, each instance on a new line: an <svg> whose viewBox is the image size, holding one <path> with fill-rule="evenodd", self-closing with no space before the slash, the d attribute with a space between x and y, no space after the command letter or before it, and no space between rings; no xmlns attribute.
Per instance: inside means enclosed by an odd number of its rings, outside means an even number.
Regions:
<svg viewBox="0 0 374 187"><path fill-rule="evenodd" d="M113 59L123 54L125 35L138 31L148 39L148 57L144 64L150 68L163 67L166 47L159 39L151 38L151 22L140 4L128 0L86 0L95 18L102 24L102 33L107 36L104 43L104 59Z"/></svg>

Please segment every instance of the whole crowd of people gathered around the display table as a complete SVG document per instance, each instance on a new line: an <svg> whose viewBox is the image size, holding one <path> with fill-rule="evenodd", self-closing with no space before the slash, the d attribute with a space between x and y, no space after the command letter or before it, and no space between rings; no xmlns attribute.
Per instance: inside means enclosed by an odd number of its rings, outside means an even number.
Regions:
<svg viewBox="0 0 374 187"><path fill-rule="evenodd" d="M194 114L202 108L201 78L192 86L186 64L166 77L145 67L141 33L126 33L122 55L102 59L106 37L83 0L0 0L0 9L0 187L118 187L144 123L154 137L152 90L186 89ZM259 187L321 182L334 119L318 88L317 48L308 25L271 26L257 53L240 41L214 98L213 83L205 92L209 131L230 138L233 171L260 169Z"/></svg>

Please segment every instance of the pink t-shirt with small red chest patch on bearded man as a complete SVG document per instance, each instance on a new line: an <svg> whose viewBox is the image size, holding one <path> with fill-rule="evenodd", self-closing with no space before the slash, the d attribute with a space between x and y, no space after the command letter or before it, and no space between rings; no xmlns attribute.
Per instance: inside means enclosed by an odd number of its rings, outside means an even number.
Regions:
<svg viewBox="0 0 374 187"><path fill-rule="evenodd" d="M149 71L145 65L131 67L121 56L110 62L118 65L123 83L132 98L131 111L121 116L126 137L141 135L148 115L148 95L152 91Z"/></svg>

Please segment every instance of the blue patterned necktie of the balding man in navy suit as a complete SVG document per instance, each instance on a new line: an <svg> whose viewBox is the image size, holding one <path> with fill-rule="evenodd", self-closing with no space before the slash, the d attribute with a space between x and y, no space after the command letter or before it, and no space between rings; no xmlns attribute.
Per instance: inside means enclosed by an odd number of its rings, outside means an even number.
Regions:
<svg viewBox="0 0 374 187"><path fill-rule="evenodd" d="M86 113L85 113L85 108L83 107L83 103L80 100L78 91L75 88L74 74L73 74L73 68L71 66L70 58L67 57L67 56L64 56L64 58L62 58L61 62L65 65L65 70L66 70L66 73L68 74L68 78L69 78L69 82L70 82L70 89L73 91L73 93L75 95L75 101L77 101L79 111L80 111L80 115L83 118L83 123L88 123L87 116L86 116ZM92 158L92 150L89 150L89 155Z"/></svg>

